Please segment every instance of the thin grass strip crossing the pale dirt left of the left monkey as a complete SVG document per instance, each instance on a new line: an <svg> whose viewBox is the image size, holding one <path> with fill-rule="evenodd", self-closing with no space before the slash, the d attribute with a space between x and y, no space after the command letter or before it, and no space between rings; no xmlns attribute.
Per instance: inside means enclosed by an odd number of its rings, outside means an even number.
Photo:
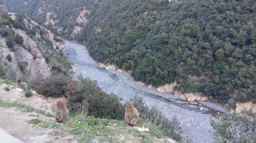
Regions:
<svg viewBox="0 0 256 143"><path fill-rule="evenodd" d="M8 102L4 102L4 101L0 100L0 106L1 107L15 107L17 110L21 110L24 112L33 112L34 111L34 112L39 113L40 115L44 115L47 117L54 117L54 115L52 115L52 113L50 113L50 112L46 112L41 109L36 109L34 107L31 107L31 106L28 106L28 105L25 105L22 103L18 103L18 102L8 103Z"/></svg>

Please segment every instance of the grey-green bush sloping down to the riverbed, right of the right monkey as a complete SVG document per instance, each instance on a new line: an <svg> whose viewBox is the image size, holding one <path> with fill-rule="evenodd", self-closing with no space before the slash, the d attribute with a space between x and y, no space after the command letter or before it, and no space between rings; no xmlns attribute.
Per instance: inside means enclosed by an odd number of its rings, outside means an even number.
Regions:
<svg viewBox="0 0 256 143"><path fill-rule="evenodd" d="M131 101L133 102L133 105L138 109L141 118L146 122L156 124L157 127L162 130L166 136L176 141L180 141L182 139L180 123L176 117L168 119L163 115L162 111L158 110L157 108L148 108L145 105L142 97L135 96L133 99L131 99Z"/></svg>

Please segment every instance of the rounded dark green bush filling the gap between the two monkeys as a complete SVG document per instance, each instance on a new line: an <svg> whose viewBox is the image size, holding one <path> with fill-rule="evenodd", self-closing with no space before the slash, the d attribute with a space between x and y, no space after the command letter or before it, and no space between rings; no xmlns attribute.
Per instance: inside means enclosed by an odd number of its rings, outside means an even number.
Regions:
<svg viewBox="0 0 256 143"><path fill-rule="evenodd" d="M70 96L71 112L79 112L84 105L88 106L88 115L108 119L124 119L124 106L115 94L106 94L97 87L96 81L78 76L78 81L72 81L68 90L75 90Z"/></svg>

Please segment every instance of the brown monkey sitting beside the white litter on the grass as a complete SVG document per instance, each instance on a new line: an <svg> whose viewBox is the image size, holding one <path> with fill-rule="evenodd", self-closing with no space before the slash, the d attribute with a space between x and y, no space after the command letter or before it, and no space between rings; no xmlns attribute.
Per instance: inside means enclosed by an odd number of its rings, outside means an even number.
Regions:
<svg viewBox="0 0 256 143"><path fill-rule="evenodd" d="M125 106L125 114L124 114L125 123L130 126L136 126L139 120L139 112L133 106L132 103L128 103Z"/></svg>

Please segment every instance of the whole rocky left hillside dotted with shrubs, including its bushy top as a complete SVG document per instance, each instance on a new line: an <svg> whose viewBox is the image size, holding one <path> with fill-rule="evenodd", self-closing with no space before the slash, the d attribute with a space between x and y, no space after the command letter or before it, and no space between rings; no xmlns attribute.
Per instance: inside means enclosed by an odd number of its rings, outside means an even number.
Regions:
<svg viewBox="0 0 256 143"><path fill-rule="evenodd" d="M51 70L66 73L71 69L71 62L63 56L63 39L29 16L2 11L0 31L0 76L26 81L30 75L48 77Z"/></svg>

